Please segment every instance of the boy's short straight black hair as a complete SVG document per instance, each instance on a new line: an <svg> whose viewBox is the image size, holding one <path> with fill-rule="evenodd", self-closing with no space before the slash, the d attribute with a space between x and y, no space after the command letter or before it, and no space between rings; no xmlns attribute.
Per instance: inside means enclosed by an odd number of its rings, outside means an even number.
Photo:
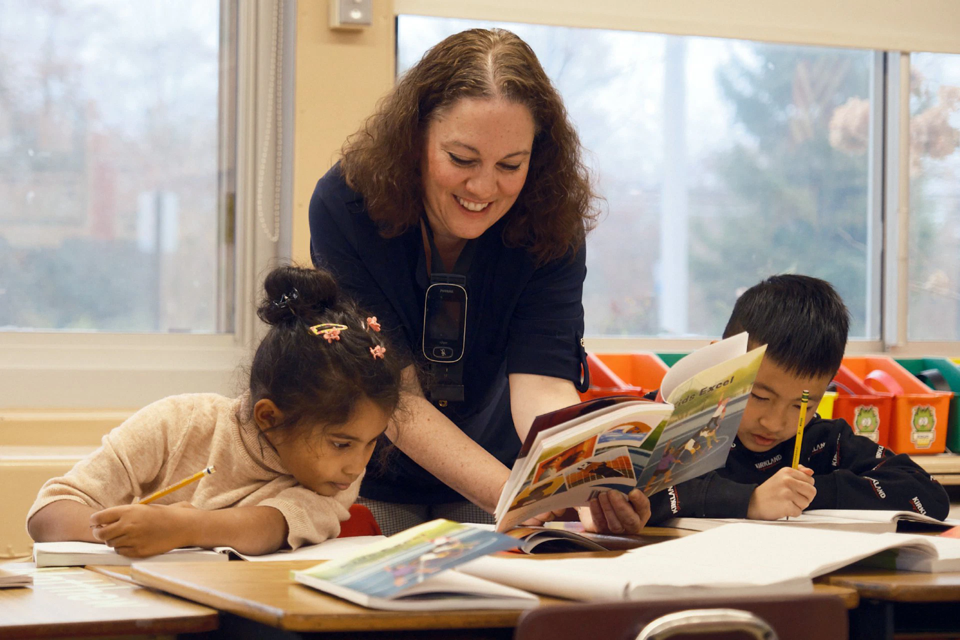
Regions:
<svg viewBox="0 0 960 640"><path fill-rule="evenodd" d="M723 337L743 331L751 344L766 344L766 356L788 372L832 376L847 347L850 311L826 280L772 275L737 298Z"/></svg>

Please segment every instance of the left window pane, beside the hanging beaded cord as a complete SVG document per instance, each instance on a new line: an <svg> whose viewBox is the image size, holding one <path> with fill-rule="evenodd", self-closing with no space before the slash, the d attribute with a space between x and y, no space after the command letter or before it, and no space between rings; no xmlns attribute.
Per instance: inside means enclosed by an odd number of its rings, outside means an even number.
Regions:
<svg viewBox="0 0 960 640"><path fill-rule="evenodd" d="M0 328L232 330L226 6L0 2Z"/></svg>

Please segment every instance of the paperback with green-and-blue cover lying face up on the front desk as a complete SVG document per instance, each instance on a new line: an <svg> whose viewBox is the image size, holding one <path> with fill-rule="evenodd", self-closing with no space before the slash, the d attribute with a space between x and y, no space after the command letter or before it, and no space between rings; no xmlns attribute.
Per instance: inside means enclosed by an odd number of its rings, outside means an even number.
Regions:
<svg viewBox="0 0 960 640"><path fill-rule="evenodd" d="M379 609L529 608L516 588L454 571L468 560L516 547L516 540L449 520L432 520L304 571L294 580Z"/></svg>

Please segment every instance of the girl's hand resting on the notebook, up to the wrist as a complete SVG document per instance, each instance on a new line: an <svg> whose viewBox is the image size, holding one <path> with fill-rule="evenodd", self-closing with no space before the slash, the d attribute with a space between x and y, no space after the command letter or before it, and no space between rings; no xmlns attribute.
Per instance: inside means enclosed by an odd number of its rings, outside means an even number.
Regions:
<svg viewBox="0 0 960 640"><path fill-rule="evenodd" d="M148 557L190 546L190 510L177 505L124 505L90 516L93 537L121 556Z"/></svg>

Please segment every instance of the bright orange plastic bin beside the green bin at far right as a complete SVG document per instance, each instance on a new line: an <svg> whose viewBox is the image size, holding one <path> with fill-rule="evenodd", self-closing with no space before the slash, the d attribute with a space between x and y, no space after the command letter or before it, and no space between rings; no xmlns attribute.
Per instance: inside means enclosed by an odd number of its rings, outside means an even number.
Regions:
<svg viewBox="0 0 960 640"><path fill-rule="evenodd" d="M947 448L949 391L933 391L893 358L851 356L843 364L876 391L893 393L890 448L897 453L943 453Z"/></svg>

